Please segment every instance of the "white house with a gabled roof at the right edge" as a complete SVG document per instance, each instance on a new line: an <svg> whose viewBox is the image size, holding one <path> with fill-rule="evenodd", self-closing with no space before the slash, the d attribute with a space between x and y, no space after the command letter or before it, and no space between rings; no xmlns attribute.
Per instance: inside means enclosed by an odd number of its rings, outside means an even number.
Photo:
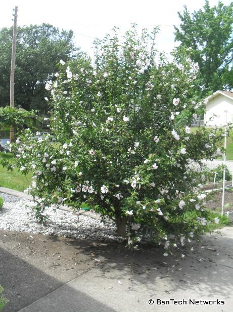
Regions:
<svg viewBox="0 0 233 312"><path fill-rule="evenodd" d="M233 92L218 90L205 98L204 102L204 124L220 127L228 122L233 123Z"/></svg>

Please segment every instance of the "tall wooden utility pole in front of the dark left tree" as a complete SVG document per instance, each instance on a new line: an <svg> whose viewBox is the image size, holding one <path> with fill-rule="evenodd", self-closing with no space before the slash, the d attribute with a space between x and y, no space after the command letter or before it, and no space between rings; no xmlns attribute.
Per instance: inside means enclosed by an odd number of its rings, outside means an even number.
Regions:
<svg viewBox="0 0 233 312"><path fill-rule="evenodd" d="M15 47L16 47L16 26L17 26L17 13L18 7L13 9L14 15L14 28L12 38L12 54L11 54L11 79L10 79L10 107L15 107ZM14 126L10 128L10 141L14 141Z"/></svg>

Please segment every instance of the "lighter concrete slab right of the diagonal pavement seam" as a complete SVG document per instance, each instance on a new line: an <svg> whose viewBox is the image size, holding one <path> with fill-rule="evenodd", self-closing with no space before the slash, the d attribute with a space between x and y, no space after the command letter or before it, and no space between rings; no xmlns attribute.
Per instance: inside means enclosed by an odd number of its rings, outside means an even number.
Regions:
<svg viewBox="0 0 233 312"><path fill-rule="evenodd" d="M233 228L226 227L221 236L204 236L195 253L189 253L184 260L163 257L160 249L144 251L138 258L136 251L131 256L116 252L109 259L105 254L98 266L20 312L230 312L232 243ZM154 304L150 305L149 299ZM186 300L187 304L183 301L183 305L156 305L157 299ZM198 304L190 304L190 299L199 300ZM200 300L224 300L224 304L203 305Z"/></svg>

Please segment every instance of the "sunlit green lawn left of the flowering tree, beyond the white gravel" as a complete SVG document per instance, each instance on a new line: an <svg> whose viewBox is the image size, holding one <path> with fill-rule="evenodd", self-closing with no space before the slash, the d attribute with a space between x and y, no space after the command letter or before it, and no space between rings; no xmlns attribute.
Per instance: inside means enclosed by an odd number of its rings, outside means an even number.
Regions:
<svg viewBox="0 0 233 312"><path fill-rule="evenodd" d="M0 153L0 155L5 159L13 157L10 153ZM31 178L32 174L24 176L17 169L8 171L0 165L0 186L23 192L31 185Z"/></svg>

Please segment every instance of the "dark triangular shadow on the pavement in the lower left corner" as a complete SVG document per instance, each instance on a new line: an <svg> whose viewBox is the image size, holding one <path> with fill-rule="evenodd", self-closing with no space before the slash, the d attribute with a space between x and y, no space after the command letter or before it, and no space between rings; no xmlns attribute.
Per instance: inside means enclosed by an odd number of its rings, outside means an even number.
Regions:
<svg viewBox="0 0 233 312"><path fill-rule="evenodd" d="M0 248L0 259L0 283L5 289L5 296L10 300L1 312L17 312L24 307L23 310L27 312L59 312L67 310L67 307L73 312L115 311L87 294L77 291L67 284L63 285L64 283L3 248ZM55 290L60 291L61 286L63 287L63 296L50 297L49 294ZM42 298L42 306L39 305L39 308L38 305L27 307L39 298ZM59 310L56 308L58 305Z"/></svg>

